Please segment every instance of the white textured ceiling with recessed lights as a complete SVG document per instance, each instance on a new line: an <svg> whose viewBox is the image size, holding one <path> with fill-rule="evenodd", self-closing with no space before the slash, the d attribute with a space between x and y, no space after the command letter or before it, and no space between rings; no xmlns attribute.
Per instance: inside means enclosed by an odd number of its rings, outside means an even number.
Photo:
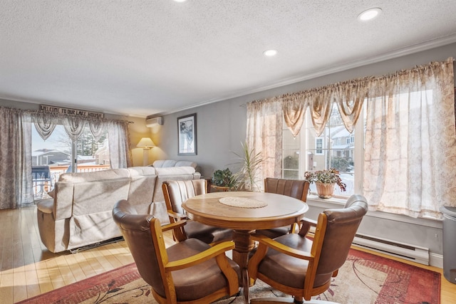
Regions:
<svg viewBox="0 0 456 304"><path fill-rule="evenodd" d="M0 98L175 112L456 42L455 16L455 0L1 0Z"/></svg>

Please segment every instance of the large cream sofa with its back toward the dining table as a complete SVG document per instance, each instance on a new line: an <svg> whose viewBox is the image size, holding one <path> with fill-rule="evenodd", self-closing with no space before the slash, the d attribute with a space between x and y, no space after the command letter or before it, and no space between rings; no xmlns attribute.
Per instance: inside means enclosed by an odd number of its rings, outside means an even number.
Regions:
<svg viewBox="0 0 456 304"><path fill-rule="evenodd" d="M60 252L120 237L112 210L121 199L128 199L138 213L169 223L162 182L200 177L190 166L61 174L53 198L37 204L41 241L49 251Z"/></svg>

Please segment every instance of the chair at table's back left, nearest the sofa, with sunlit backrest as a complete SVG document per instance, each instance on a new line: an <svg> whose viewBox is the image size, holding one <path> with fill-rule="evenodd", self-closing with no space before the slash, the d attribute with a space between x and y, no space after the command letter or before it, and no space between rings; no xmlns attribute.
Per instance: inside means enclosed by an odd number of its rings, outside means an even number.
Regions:
<svg viewBox="0 0 456 304"><path fill-rule="evenodd" d="M187 181L165 181L162 184L166 208L170 222L175 223L187 219L182 203L187 199L207 192L205 179L192 179ZM201 224L187 219L187 224L172 231L175 241L195 238L204 243L217 243L232 240L232 229Z"/></svg>

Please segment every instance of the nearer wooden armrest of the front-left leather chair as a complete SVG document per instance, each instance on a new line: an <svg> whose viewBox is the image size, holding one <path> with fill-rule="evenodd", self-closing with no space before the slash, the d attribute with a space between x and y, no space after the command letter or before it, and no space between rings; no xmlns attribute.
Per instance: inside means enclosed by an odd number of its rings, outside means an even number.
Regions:
<svg viewBox="0 0 456 304"><path fill-rule="evenodd" d="M225 241L218 243L217 245L207 248L207 250L195 254L195 256L190 256L188 258L182 258L182 260L172 261L165 265L165 271L178 271L180 269L188 268L195 266L199 263L214 258L219 255L224 255L225 251L234 249L234 242Z"/></svg>

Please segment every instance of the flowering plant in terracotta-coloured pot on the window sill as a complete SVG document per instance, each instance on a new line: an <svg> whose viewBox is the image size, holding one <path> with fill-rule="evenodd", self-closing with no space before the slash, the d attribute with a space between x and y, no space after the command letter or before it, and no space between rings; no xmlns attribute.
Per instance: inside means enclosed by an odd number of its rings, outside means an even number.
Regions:
<svg viewBox="0 0 456 304"><path fill-rule="evenodd" d="M318 171L306 171L304 179L309 183L315 183L316 192L322 199L329 199L333 196L336 184L341 191L346 191L347 185L342 182L341 174L334 168Z"/></svg>

